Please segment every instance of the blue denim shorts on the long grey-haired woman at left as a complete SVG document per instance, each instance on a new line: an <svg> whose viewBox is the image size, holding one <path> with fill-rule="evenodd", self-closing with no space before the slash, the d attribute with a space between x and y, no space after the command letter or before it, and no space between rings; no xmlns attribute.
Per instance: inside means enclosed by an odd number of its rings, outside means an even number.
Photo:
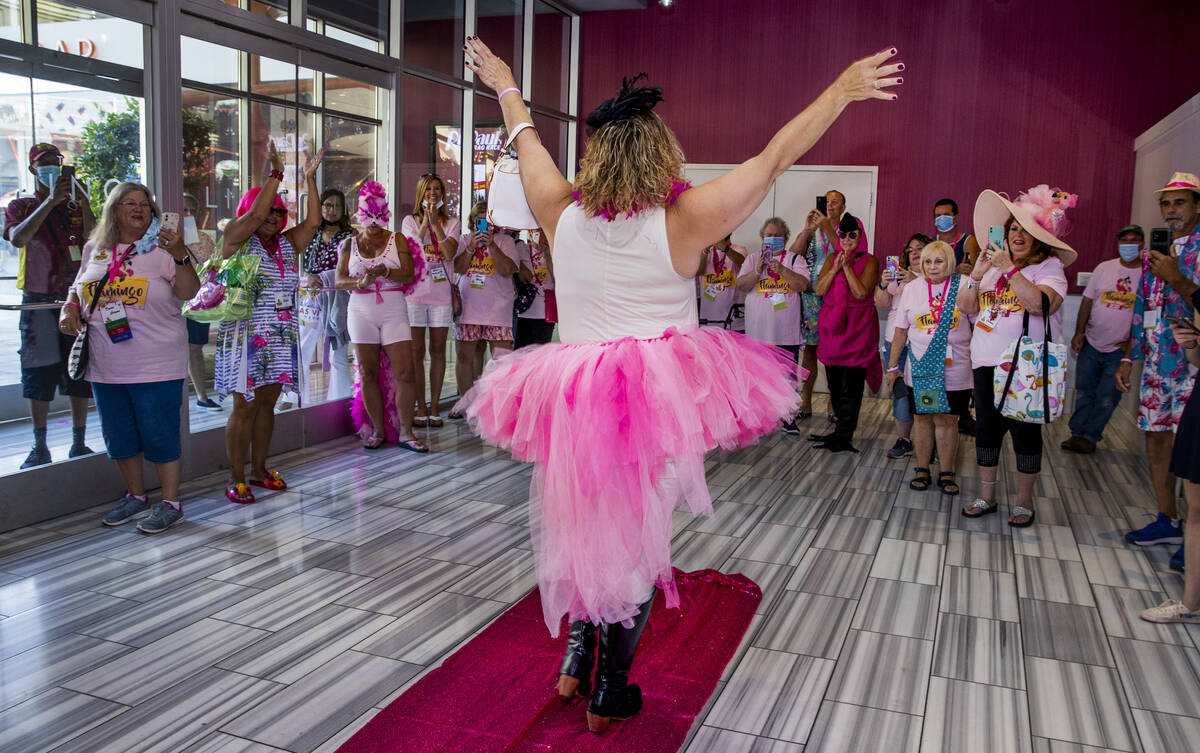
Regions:
<svg viewBox="0 0 1200 753"><path fill-rule="evenodd" d="M108 457L126 460L145 454L151 463L170 463L180 458L182 379L130 385L94 381L91 392Z"/></svg>

